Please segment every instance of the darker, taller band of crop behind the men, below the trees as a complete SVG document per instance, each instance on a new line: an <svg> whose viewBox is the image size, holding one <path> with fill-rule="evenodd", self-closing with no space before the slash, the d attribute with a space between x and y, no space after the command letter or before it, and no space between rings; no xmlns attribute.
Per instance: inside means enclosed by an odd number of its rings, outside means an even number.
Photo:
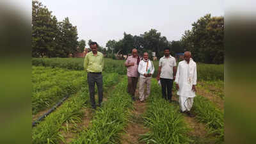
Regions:
<svg viewBox="0 0 256 144"><path fill-rule="evenodd" d="M83 58L33 58L32 65L44 67L61 67L72 70L83 70ZM127 68L124 66L124 60L111 60L104 58L104 72L116 72L125 75ZM155 72L153 77L157 76L159 61L153 61ZM223 65L197 63L198 81L224 80Z"/></svg>

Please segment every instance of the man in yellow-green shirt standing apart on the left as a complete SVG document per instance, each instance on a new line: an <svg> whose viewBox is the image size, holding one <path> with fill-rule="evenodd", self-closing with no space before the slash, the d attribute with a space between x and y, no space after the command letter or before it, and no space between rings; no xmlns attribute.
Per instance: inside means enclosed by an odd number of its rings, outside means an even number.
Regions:
<svg viewBox="0 0 256 144"><path fill-rule="evenodd" d="M92 104L92 108L96 109L95 104L95 83L97 84L98 88L98 95L99 95L99 105L101 105L102 98L103 98L103 81L102 81L102 70L103 70L103 54L98 49L97 42L92 42L90 44L92 52L86 54L84 58L84 70L87 72L87 82L89 85L89 92L90 92L90 100Z"/></svg>

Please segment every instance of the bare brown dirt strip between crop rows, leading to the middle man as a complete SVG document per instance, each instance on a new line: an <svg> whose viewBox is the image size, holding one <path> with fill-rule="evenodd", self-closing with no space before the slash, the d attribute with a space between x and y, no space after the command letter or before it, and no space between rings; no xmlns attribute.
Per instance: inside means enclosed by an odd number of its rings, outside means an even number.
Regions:
<svg viewBox="0 0 256 144"><path fill-rule="evenodd" d="M138 99L138 89L136 90L136 99ZM138 144L138 138L140 134L145 134L149 131L147 127L143 124L143 113L146 111L147 102L139 102L136 100L133 103L133 110L129 111L131 113L131 118L129 119L129 124L125 128L125 134L121 136L122 144Z"/></svg>

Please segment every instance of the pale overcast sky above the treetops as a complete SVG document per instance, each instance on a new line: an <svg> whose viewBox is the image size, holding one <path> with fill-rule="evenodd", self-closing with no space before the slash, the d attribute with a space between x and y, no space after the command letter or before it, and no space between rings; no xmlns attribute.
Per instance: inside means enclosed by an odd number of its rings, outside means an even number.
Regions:
<svg viewBox="0 0 256 144"><path fill-rule="evenodd" d="M191 24L207 13L224 16L224 1L214 0L40 0L58 21L68 17L77 26L79 40L102 46L125 33L140 35L157 29L169 41L180 40Z"/></svg>

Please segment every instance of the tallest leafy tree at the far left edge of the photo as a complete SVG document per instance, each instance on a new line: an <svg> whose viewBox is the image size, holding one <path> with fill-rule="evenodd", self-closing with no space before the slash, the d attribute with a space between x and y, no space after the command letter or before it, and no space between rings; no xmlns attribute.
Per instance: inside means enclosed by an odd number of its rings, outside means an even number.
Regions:
<svg viewBox="0 0 256 144"><path fill-rule="evenodd" d="M58 33L57 19L51 15L46 6L32 1L32 56L55 56L56 37Z"/></svg>

